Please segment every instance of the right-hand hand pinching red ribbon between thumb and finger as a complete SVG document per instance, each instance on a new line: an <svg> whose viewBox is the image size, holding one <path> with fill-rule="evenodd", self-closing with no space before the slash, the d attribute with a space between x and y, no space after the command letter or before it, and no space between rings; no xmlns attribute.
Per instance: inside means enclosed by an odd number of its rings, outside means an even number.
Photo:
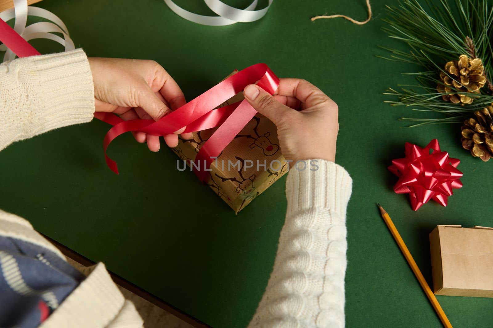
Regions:
<svg viewBox="0 0 493 328"><path fill-rule="evenodd" d="M282 155L287 161L322 159L334 162L339 131L337 104L313 84L281 79L276 95L251 84L246 100L277 126Z"/></svg>

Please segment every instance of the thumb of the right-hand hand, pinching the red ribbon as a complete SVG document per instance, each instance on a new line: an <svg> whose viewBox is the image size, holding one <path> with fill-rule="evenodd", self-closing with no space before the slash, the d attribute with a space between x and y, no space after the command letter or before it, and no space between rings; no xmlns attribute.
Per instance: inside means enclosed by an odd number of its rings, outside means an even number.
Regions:
<svg viewBox="0 0 493 328"><path fill-rule="evenodd" d="M278 124L282 116L287 111L292 110L255 84L247 85L243 95L256 111L274 122L274 124Z"/></svg>

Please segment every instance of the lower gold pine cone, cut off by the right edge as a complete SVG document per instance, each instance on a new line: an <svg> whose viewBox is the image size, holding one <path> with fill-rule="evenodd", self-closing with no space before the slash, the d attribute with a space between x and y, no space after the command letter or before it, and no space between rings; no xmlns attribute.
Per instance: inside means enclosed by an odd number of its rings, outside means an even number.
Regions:
<svg viewBox="0 0 493 328"><path fill-rule="evenodd" d="M462 147L471 155L488 162L493 156L493 103L487 108L474 112L476 119L464 121L462 126Z"/></svg>

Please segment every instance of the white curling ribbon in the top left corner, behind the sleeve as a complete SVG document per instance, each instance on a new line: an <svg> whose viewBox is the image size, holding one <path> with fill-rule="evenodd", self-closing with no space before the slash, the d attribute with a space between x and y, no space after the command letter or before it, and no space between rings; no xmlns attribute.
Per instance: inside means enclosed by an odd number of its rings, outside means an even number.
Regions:
<svg viewBox="0 0 493 328"><path fill-rule="evenodd" d="M51 22L39 22L26 26L28 16L41 17ZM63 45L65 51L75 49L73 41L69 36L69 30L67 30L62 20L46 9L28 6L27 0L14 0L14 8L2 11L0 18L5 22L15 18L14 30L26 41L49 39ZM53 33L61 33L63 38ZM3 56L4 62L15 59L15 54L4 44L0 45L0 51L5 51L5 55Z"/></svg>

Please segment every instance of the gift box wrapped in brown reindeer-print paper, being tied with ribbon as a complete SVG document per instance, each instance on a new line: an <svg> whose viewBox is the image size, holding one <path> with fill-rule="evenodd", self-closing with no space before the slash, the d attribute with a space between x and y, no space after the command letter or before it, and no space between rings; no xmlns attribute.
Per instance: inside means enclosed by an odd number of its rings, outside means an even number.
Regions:
<svg viewBox="0 0 493 328"><path fill-rule="evenodd" d="M243 93L239 93L217 108L243 99ZM179 170L193 168L197 153L215 130L217 128L193 132L191 139L179 138L178 146L173 148L182 160L177 164ZM257 113L211 164L207 184L238 213L288 169L275 124Z"/></svg>

